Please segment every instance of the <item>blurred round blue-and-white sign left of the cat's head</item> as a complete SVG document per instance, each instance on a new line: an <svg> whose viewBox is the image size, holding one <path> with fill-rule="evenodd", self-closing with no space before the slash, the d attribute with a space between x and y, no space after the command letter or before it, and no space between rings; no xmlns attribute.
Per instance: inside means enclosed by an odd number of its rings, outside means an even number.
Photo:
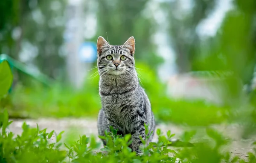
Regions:
<svg viewBox="0 0 256 163"><path fill-rule="evenodd" d="M85 42L79 48L79 59L82 62L92 63L97 59L97 47L95 43Z"/></svg>

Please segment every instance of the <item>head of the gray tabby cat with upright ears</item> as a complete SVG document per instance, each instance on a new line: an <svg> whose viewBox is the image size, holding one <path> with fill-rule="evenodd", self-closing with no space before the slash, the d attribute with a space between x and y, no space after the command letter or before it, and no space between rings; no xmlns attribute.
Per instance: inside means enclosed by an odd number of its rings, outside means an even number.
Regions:
<svg viewBox="0 0 256 163"><path fill-rule="evenodd" d="M134 37L130 37L122 46L113 46L100 36L97 40L97 51L100 75L134 73Z"/></svg>

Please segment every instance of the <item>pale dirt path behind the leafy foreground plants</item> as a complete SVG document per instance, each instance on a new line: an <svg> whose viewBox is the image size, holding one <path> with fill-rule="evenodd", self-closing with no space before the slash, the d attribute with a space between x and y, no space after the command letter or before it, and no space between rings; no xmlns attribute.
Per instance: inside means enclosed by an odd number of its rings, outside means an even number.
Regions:
<svg viewBox="0 0 256 163"><path fill-rule="evenodd" d="M79 134L86 134L87 136L94 135L97 136L97 123L95 119L38 119L38 120L13 120L13 123L9 126L9 129L15 134L20 134L22 132L21 126L23 122L32 127L38 126L40 129L47 128L47 132L55 130L58 134L61 131L65 131L63 134L63 140L67 137L67 135L71 136L73 139L78 140ZM242 140L241 139L241 127L239 125L218 125L213 126L218 129L219 132L223 133L225 136L231 138L231 145L228 146L228 150L231 154L238 155L239 157L246 159L247 152L253 151L252 143L256 141L256 137ZM175 138L178 138L180 134L183 133L185 127L176 126L173 124L159 124L157 128L161 129L163 133L166 133L168 130L171 130L172 133L175 133ZM203 131L203 129L199 129L199 131ZM201 133L197 135L198 139L204 139L204 134ZM52 141L54 141L55 137L53 137ZM155 134L154 140L157 141L157 135Z"/></svg>

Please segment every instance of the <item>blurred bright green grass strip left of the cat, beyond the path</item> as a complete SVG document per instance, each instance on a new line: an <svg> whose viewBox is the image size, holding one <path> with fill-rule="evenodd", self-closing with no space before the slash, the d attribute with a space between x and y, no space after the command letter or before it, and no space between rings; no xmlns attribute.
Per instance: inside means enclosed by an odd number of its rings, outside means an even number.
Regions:
<svg viewBox="0 0 256 163"><path fill-rule="evenodd" d="M51 88L38 83L31 83L32 87L18 84L0 104L16 118L96 116L101 107L98 88L90 82L85 84L78 92L61 84Z"/></svg>

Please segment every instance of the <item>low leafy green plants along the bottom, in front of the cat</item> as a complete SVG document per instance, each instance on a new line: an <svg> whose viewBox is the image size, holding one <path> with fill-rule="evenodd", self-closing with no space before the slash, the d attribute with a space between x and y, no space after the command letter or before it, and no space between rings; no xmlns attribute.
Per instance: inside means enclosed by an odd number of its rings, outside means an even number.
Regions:
<svg viewBox="0 0 256 163"><path fill-rule="evenodd" d="M60 143L61 132L57 136L55 143L50 143L54 131L47 133L47 129L39 130L31 128L23 123L22 134L14 135L7 131L9 121L8 113L4 110L0 114L0 162L1 163L254 163L256 154L249 153L248 161L241 160L237 156L230 157L229 152L220 152L222 146L227 144L227 140L213 129L207 129L209 142L198 142L193 147L183 147L181 149L170 149L172 144L170 139L174 136L170 131L163 135L157 129L157 142L151 142L144 146L143 156L136 156L129 148L131 135L124 137L116 135L117 130L110 126L111 132L102 136L107 141L107 145L100 149L101 142L97 142L95 137L80 136L76 142L67 145ZM146 132L147 131L147 126ZM185 132L182 136L184 142L192 141L195 132ZM212 143L215 145L212 146ZM143 140L145 145L145 141ZM256 152L256 149L254 149Z"/></svg>

